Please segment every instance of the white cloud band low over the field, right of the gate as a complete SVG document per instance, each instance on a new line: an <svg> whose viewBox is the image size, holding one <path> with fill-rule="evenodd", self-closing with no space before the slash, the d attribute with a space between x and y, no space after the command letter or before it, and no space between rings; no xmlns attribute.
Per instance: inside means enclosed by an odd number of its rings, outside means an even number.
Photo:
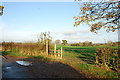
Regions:
<svg viewBox="0 0 120 80"><path fill-rule="evenodd" d="M61 37L54 37L56 39L66 39L68 42L84 42L84 41L91 41L93 43L104 43L107 41L118 41L118 34L117 32L110 32L107 33L105 30L100 30L98 34L90 32L89 28L85 29L77 29L77 30L67 30L64 32L57 32L57 36Z"/></svg>

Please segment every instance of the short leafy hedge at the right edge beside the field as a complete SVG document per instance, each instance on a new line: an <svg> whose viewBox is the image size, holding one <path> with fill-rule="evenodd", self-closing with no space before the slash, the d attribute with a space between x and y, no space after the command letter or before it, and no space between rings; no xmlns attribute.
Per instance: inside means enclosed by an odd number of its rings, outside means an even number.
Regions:
<svg viewBox="0 0 120 80"><path fill-rule="evenodd" d="M111 48L96 49L96 64L120 71L120 50Z"/></svg>

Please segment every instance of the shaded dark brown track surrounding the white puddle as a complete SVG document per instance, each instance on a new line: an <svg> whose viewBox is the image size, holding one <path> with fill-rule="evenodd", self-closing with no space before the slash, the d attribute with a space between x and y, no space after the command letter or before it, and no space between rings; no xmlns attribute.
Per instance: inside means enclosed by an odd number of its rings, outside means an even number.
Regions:
<svg viewBox="0 0 120 80"><path fill-rule="evenodd" d="M48 62L26 57L6 56L3 65L3 78L84 78L72 67L60 62ZM16 60L31 61L32 66L21 66Z"/></svg>

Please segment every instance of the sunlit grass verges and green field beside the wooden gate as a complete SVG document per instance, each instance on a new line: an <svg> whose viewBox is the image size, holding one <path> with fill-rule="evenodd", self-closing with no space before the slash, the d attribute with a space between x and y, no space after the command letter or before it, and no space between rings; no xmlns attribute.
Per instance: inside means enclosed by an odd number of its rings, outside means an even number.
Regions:
<svg viewBox="0 0 120 80"><path fill-rule="evenodd" d="M73 66L77 70L80 70L82 73L88 74L96 78L118 78L120 73L107 70L105 68L100 68L95 66L95 53L96 48L108 47L108 46L89 46L89 47L80 47L80 46L60 46L57 45L57 49L63 47L63 59L60 60L68 65ZM118 47L111 47L117 49ZM3 52L6 55L14 56L27 56L23 54L13 53L13 52ZM58 59L50 58L46 56L32 56L34 58L42 60L55 60Z"/></svg>

